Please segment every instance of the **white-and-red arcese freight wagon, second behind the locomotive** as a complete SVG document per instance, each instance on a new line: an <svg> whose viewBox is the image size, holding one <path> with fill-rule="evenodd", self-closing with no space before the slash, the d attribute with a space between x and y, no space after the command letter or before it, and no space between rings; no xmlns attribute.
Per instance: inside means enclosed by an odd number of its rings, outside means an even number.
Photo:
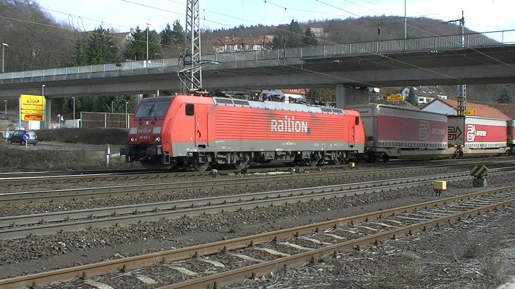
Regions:
<svg viewBox="0 0 515 289"><path fill-rule="evenodd" d="M449 146L458 156L495 156L508 151L507 121L476 116L449 116Z"/></svg>

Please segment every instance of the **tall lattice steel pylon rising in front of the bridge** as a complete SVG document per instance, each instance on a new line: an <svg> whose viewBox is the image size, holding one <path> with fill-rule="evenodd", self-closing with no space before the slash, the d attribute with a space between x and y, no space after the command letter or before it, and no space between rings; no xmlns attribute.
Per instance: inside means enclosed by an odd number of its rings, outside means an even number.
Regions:
<svg viewBox="0 0 515 289"><path fill-rule="evenodd" d="M184 52L181 58L181 94L187 94L202 87L202 66L200 64L200 13L199 0L186 0L186 29Z"/></svg>

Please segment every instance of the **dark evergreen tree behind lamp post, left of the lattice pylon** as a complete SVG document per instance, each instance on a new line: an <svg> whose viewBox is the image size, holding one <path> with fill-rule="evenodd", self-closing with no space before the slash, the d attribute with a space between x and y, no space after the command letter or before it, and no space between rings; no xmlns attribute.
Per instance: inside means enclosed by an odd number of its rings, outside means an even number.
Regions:
<svg viewBox="0 0 515 289"><path fill-rule="evenodd" d="M161 46L158 44L159 35L156 30L148 31L148 59L161 58ZM141 30L136 26L127 40L127 49L123 52L125 59L146 60L147 59L147 30Z"/></svg>

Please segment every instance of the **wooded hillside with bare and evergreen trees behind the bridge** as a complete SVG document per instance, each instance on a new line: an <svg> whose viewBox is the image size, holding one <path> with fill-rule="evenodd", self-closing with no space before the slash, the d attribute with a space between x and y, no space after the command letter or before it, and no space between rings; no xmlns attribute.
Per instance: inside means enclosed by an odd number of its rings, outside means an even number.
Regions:
<svg viewBox="0 0 515 289"><path fill-rule="evenodd" d="M135 26L131 31L116 31L100 25L93 31L82 31L70 23L59 23L36 1L0 0L0 39L8 43L6 71L25 71L66 66L118 63L147 58L146 29ZM232 29L210 29L202 26L202 53L214 53L211 39L234 36L241 38L273 37L273 47L297 47L318 44L343 44L404 38L404 17L367 16L358 19L325 19L289 23L278 26L239 26ZM315 37L314 29L323 31ZM184 46L184 29L179 20L160 30L149 32L149 59L179 57ZM474 32L466 29L466 32ZM442 23L424 17L407 19L407 37L459 34L456 24ZM391 90L391 89L390 89ZM385 89L388 91L388 89ZM456 86L445 91L456 98ZM310 96L327 100L331 89L313 91ZM469 85L468 100L478 102L512 101L513 84ZM62 101L63 113L73 110L71 99ZM83 98L76 100L77 112L125 112L125 104L133 109L132 96Z"/></svg>

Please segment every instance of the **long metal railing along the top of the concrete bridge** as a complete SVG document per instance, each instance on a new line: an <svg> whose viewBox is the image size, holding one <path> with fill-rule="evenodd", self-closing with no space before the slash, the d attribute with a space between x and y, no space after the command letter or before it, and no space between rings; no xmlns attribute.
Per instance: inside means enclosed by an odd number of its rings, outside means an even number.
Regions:
<svg viewBox="0 0 515 289"><path fill-rule="evenodd" d="M253 50L203 55L201 60L216 62L266 61L287 58L314 58L327 56L369 55L370 53L438 50L444 48L477 48L491 45L514 44L515 30L468 33L398 40L369 41L347 44L316 45L295 48ZM179 66L178 58L148 61L130 61L117 64L98 64L89 66L64 67L0 74L0 80L34 78L58 75L104 73L108 71L135 70Z"/></svg>

